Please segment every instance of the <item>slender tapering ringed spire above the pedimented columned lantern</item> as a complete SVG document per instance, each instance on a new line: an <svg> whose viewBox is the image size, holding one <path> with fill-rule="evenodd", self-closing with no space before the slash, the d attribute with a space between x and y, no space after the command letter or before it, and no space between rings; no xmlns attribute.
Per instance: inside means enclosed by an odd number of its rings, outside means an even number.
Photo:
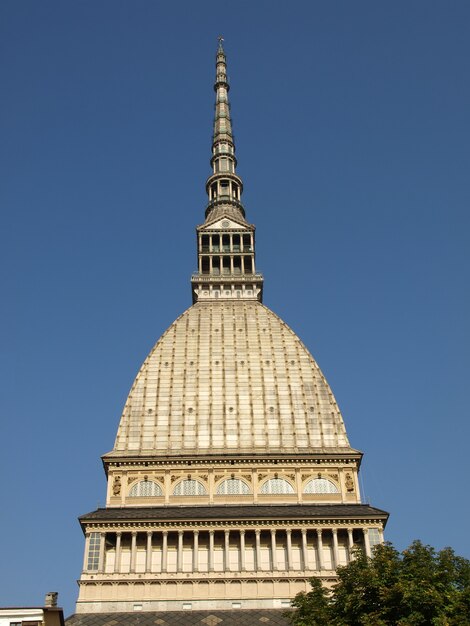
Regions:
<svg viewBox="0 0 470 626"><path fill-rule="evenodd" d="M206 191L209 196L206 218L212 219L222 210L240 219L245 217L245 210L241 203L243 183L235 172L237 159L228 101L230 85L227 78L227 58L222 42L223 37L219 37L214 82L216 95L212 135L212 175L206 182ZM215 215L214 210L216 210Z"/></svg>

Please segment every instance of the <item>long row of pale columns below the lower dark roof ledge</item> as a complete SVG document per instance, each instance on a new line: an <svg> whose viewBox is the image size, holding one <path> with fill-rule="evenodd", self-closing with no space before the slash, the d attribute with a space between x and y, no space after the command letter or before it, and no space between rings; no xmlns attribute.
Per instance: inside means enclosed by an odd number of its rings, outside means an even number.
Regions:
<svg viewBox="0 0 470 626"><path fill-rule="evenodd" d="M354 546L371 553L367 528L117 530L94 537L91 548L87 535L84 571L331 571L351 560ZM89 560L97 548L99 559Z"/></svg>

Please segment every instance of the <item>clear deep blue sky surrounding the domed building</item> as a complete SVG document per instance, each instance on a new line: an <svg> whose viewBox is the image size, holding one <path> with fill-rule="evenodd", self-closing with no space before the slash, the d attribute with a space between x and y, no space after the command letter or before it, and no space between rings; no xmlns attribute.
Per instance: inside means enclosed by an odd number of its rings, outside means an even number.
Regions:
<svg viewBox="0 0 470 626"><path fill-rule="evenodd" d="M458 0L0 3L0 605L73 611L100 455L190 304L219 33L265 304L387 538L470 557L469 30Z"/></svg>

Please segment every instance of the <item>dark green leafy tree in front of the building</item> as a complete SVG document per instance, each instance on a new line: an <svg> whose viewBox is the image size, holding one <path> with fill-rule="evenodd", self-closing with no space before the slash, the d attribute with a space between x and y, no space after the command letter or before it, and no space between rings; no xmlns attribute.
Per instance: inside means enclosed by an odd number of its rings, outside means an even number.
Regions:
<svg viewBox="0 0 470 626"><path fill-rule="evenodd" d="M331 590L313 578L296 595L293 626L470 626L470 561L451 548L385 543L371 558L358 549L337 574Z"/></svg>

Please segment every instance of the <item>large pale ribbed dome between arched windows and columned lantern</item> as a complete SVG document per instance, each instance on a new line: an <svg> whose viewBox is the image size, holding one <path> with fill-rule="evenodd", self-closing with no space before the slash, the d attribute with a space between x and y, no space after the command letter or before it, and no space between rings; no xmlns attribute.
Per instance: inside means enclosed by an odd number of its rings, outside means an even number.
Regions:
<svg viewBox="0 0 470 626"><path fill-rule="evenodd" d="M347 452L341 413L295 333L255 301L197 303L143 363L113 455Z"/></svg>

